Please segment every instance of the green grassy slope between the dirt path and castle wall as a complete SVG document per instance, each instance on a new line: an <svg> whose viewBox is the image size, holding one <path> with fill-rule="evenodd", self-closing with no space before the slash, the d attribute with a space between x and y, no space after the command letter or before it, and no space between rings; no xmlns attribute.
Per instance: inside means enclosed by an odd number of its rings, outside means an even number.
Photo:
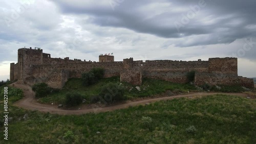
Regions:
<svg viewBox="0 0 256 144"><path fill-rule="evenodd" d="M100 93L101 88L110 82L118 83L119 78L118 77L105 78L100 80L98 83L90 86L82 85L81 79L78 79L78 78L70 79L66 83L66 85L63 87L62 90L60 90L57 93L49 94L45 98L39 99L39 102L63 104L65 102L65 94L67 92L78 92L79 94L82 95L83 99L90 101L92 96L98 95ZM178 84L178 83L167 82L164 80L154 80L154 79L147 79L147 78L143 79L142 85L140 86L141 91L138 91L135 88L135 86L129 83L123 83L123 85L126 87L126 90L124 93L124 98L126 100L133 99L133 98L141 98L141 97L151 97L152 95L155 95L155 94L161 94L166 90L171 90L176 93L196 90L195 86L189 85L189 84ZM131 89L132 87L133 89L129 91L129 89Z"/></svg>

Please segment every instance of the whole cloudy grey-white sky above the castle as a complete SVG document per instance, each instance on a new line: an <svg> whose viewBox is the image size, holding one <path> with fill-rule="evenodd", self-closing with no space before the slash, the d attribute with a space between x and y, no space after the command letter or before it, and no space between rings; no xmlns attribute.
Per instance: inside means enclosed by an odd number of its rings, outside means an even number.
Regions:
<svg viewBox="0 0 256 144"><path fill-rule="evenodd" d="M2 0L0 80L17 50L98 61L238 57L239 75L256 77L255 0Z"/></svg>

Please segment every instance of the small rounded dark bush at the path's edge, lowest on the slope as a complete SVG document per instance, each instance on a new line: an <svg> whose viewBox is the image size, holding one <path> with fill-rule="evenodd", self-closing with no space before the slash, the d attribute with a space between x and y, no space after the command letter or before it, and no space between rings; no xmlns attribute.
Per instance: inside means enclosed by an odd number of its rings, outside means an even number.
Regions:
<svg viewBox="0 0 256 144"><path fill-rule="evenodd" d="M68 106L77 106L82 103L82 95L79 93L67 93L65 103Z"/></svg>

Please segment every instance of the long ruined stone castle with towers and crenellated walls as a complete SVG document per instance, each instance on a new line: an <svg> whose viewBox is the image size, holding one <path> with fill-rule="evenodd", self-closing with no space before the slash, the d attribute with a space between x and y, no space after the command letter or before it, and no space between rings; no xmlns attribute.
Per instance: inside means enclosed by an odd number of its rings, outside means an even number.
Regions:
<svg viewBox="0 0 256 144"><path fill-rule="evenodd" d="M142 60L133 58L114 61L112 55L100 55L99 62L51 58L41 49L18 49L18 62L10 64L10 81L33 85L45 82L62 88L70 78L80 78L93 67L105 69L104 77L120 77L121 82L141 85L142 78L186 83L187 73L196 71L194 83L203 85L241 85L253 88L253 79L238 76L237 58L209 58L208 61Z"/></svg>

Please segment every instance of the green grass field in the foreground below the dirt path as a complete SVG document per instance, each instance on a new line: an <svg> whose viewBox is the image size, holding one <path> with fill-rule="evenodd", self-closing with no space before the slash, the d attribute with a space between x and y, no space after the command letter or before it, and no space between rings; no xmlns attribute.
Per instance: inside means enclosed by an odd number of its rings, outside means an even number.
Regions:
<svg viewBox="0 0 256 144"><path fill-rule="evenodd" d="M256 143L256 100L230 95L98 114L54 115L13 106L9 112L9 140L1 134L0 143Z"/></svg>

